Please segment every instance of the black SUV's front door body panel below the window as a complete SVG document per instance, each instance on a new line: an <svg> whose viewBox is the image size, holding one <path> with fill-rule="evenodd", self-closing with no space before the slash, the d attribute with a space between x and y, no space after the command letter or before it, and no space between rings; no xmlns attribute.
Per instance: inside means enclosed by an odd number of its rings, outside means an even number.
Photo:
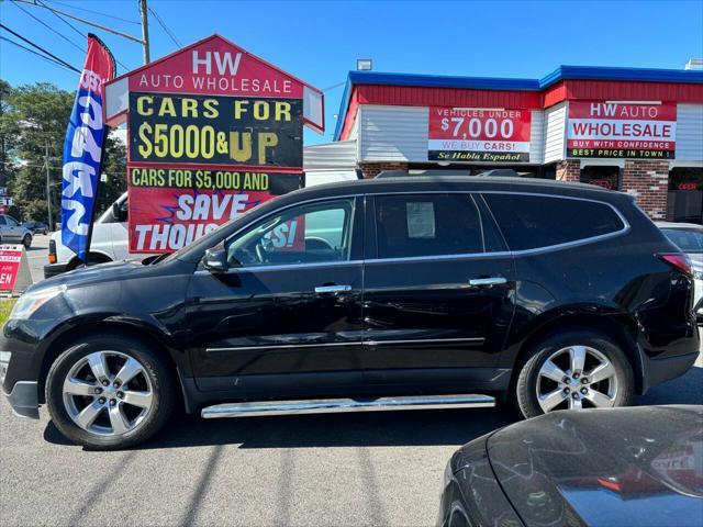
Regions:
<svg viewBox="0 0 703 527"><path fill-rule="evenodd" d="M321 285L349 285L316 293ZM194 357L205 378L358 370L361 340L361 265L198 273L191 294L192 332L205 348ZM222 382L221 382L222 381Z"/></svg>

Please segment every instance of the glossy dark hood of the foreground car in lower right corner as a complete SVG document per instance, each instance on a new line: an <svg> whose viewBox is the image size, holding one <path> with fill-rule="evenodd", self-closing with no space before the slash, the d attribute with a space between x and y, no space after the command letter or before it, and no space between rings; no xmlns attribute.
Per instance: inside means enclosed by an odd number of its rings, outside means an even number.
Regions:
<svg viewBox="0 0 703 527"><path fill-rule="evenodd" d="M527 525L700 526L703 406L555 412L488 440Z"/></svg>

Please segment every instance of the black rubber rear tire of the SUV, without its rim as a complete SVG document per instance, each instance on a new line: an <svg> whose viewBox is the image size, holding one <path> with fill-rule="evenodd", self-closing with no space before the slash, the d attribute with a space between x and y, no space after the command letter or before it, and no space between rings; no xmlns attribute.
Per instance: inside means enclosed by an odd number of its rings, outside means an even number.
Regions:
<svg viewBox="0 0 703 527"><path fill-rule="evenodd" d="M588 346L604 355L615 370L617 393L613 396L614 405L627 406L631 403L635 385L634 373L623 350L610 338L595 332L571 330L535 344L520 365L514 395L517 408L524 417L535 417L545 413L537 399L539 370L553 354L570 346Z"/></svg>

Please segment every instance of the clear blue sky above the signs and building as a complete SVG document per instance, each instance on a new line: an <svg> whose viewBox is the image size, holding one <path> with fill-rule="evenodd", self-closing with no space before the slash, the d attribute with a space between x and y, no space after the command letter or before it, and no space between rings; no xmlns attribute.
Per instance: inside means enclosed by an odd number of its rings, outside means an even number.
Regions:
<svg viewBox="0 0 703 527"><path fill-rule="evenodd" d="M45 0L47 4L141 36L136 0ZM40 8L26 11L82 47L68 25ZM377 71L537 78L558 65L683 68L703 57L703 0L690 2L431 2L431 1L169 1L149 5L183 44L220 33L282 69L326 89L346 80L357 58L373 59ZM126 19L121 21L81 8ZM15 32L66 61L83 55L51 33L10 0L0 19ZM87 27L72 22L83 33ZM177 45L149 18L152 58ZM116 59L142 65L138 44L92 30ZM10 36L0 31L3 36ZM16 40L13 37L13 40ZM120 67L120 72L124 68ZM19 85L52 81L75 89L77 74L0 41L0 76ZM325 92L324 137L306 131L305 143L332 141L334 114L344 88Z"/></svg>

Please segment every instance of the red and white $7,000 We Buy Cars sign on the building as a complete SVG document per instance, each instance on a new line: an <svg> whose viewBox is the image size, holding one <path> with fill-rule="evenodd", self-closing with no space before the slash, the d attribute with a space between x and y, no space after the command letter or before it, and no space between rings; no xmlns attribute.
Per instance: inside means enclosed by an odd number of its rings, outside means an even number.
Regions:
<svg viewBox="0 0 703 527"><path fill-rule="evenodd" d="M429 108L427 158L436 161L529 161L529 110Z"/></svg>

